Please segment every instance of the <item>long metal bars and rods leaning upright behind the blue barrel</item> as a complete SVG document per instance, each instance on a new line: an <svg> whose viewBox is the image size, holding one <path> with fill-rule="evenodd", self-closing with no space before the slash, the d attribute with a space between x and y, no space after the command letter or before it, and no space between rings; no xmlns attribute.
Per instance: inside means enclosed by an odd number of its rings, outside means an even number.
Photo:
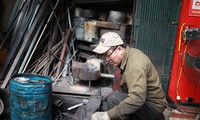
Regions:
<svg viewBox="0 0 200 120"><path fill-rule="evenodd" d="M75 56L70 8L75 1L17 0L0 49L8 45L1 88L17 73L59 78L69 74Z"/></svg>

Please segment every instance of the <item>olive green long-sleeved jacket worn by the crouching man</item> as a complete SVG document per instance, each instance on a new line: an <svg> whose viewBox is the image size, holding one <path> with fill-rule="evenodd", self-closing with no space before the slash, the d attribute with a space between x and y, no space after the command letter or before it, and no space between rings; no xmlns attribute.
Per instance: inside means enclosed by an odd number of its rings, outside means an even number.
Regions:
<svg viewBox="0 0 200 120"><path fill-rule="evenodd" d="M140 50L126 47L120 64L123 83L127 84L128 97L107 111L111 119L125 119L124 115L134 113L146 101L156 110L163 112L167 106L159 74Z"/></svg>

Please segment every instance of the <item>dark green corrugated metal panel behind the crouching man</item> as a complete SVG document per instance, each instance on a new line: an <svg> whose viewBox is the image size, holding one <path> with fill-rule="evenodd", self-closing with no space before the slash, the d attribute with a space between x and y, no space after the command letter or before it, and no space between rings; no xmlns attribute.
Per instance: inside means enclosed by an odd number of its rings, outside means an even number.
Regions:
<svg viewBox="0 0 200 120"><path fill-rule="evenodd" d="M180 0L137 0L136 5L133 45L150 57L160 77L165 78L162 79L165 91L177 27L171 23L178 19L179 3Z"/></svg>

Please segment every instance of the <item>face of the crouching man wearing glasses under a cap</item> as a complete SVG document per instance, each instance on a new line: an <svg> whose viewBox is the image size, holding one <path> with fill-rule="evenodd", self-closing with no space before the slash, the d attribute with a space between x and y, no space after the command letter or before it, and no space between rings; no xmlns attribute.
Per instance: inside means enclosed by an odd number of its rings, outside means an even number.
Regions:
<svg viewBox="0 0 200 120"><path fill-rule="evenodd" d="M103 54L105 60L109 62L113 66L118 66L122 60L123 57L123 48L121 46L118 46L114 49L109 49L107 52Z"/></svg>

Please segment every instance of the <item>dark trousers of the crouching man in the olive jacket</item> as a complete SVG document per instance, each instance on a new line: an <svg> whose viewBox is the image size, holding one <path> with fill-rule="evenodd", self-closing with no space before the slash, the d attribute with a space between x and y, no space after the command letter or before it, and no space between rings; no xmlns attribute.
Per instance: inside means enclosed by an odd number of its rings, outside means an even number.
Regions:
<svg viewBox="0 0 200 120"><path fill-rule="evenodd" d="M107 100L104 102L104 107L103 107L104 110L109 110L113 108L127 97L128 96L126 93L112 92L107 96ZM127 120L160 120L160 119L164 119L163 113L158 112L148 102L146 102L136 112L127 116Z"/></svg>

